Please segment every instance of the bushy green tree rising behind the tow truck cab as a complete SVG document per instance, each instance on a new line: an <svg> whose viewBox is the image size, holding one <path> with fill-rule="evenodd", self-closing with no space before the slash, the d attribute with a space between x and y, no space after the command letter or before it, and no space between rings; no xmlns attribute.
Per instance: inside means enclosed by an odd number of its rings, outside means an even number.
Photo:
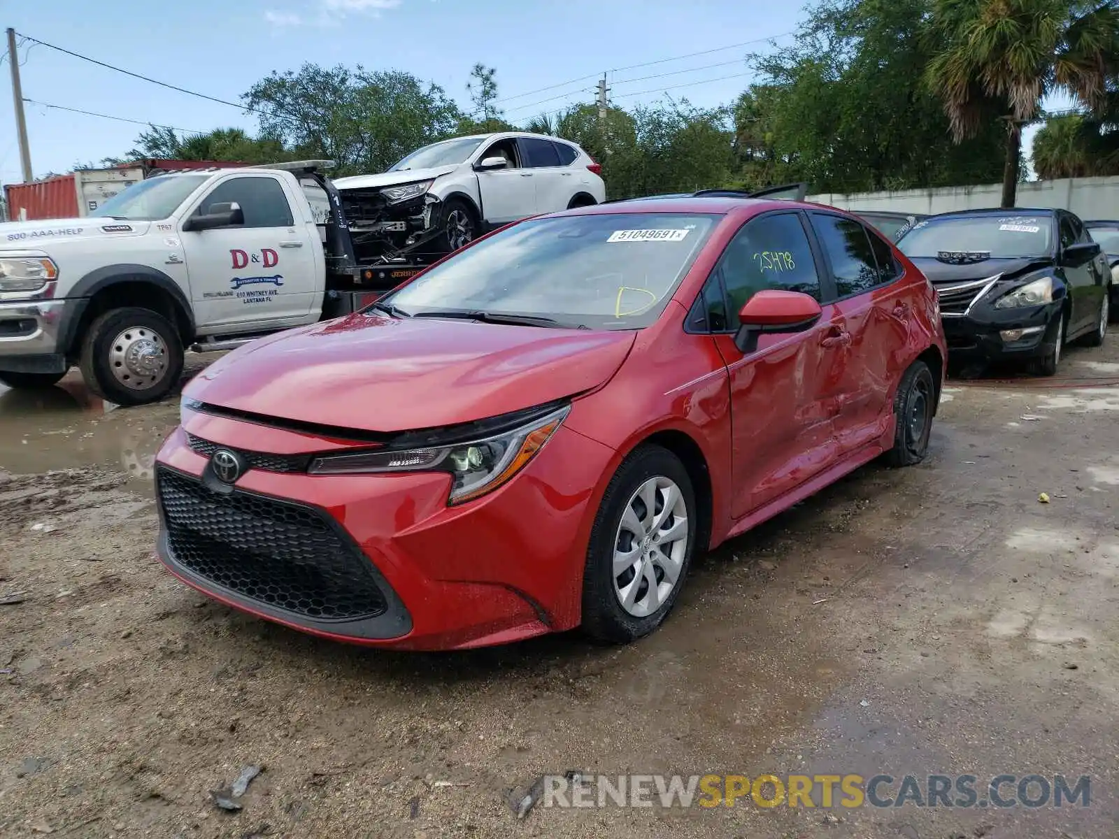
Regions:
<svg viewBox="0 0 1119 839"><path fill-rule="evenodd" d="M442 87L408 73L304 64L273 72L242 97L263 112L262 132L336 175L380 172L421 145L455 133L461 113Z"/></svg>

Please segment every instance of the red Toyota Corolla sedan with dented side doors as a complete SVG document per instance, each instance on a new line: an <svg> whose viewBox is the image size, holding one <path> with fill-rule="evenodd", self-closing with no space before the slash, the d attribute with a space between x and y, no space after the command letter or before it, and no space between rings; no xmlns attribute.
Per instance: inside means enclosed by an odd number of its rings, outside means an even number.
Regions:
<svg viewBox="0 0 1119 839"><path fill-rule="evenodd" d="M837 210L535 218L191 381L159 553L339 640L629 641L698 553L880 454L921 460L943 359L928 281Z"/></svg>

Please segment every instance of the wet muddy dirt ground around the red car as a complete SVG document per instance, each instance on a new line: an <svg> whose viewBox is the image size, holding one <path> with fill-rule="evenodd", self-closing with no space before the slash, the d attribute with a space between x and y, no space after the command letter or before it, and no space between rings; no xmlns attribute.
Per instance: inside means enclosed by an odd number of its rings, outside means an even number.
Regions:
<svg viewBox="0 0 1119 839"><path fill-rule="evenodd" d="M1115 837L1119 336L1062 364L951 383L924 463L705 557L640 643L454 654L313 640L167 574L151 463L176 400L0 393L0 601L21 600L0 605L0 836ZM510 788L568 769L1060 773L1091 800L515 818Z"/></svg>

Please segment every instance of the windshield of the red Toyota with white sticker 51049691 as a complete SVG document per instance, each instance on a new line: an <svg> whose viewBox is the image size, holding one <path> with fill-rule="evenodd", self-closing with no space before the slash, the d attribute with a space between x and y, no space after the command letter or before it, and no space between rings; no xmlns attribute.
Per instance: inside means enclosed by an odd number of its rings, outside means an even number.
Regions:
<svg viewBox="0 0 1119 839"><path fill-rule="evenodd" d="M639 329L660 315L718 219L617 213L524 221L451 256L384 302L406 314L483 311Z"/></svg>

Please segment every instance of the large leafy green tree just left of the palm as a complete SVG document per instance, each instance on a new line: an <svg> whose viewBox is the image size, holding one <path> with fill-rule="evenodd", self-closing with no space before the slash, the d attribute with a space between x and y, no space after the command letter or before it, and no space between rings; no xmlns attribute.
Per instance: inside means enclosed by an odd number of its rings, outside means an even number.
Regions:
<svg viewBox="0 0 1119 839"><path fill-rule="evenodd" d="M739 178L805 180L814 190L876 191L998 177L1002 135L952 143L922 83L932 0L825 0L794 43L753 58L762 82L734 107Z"/></svg>

